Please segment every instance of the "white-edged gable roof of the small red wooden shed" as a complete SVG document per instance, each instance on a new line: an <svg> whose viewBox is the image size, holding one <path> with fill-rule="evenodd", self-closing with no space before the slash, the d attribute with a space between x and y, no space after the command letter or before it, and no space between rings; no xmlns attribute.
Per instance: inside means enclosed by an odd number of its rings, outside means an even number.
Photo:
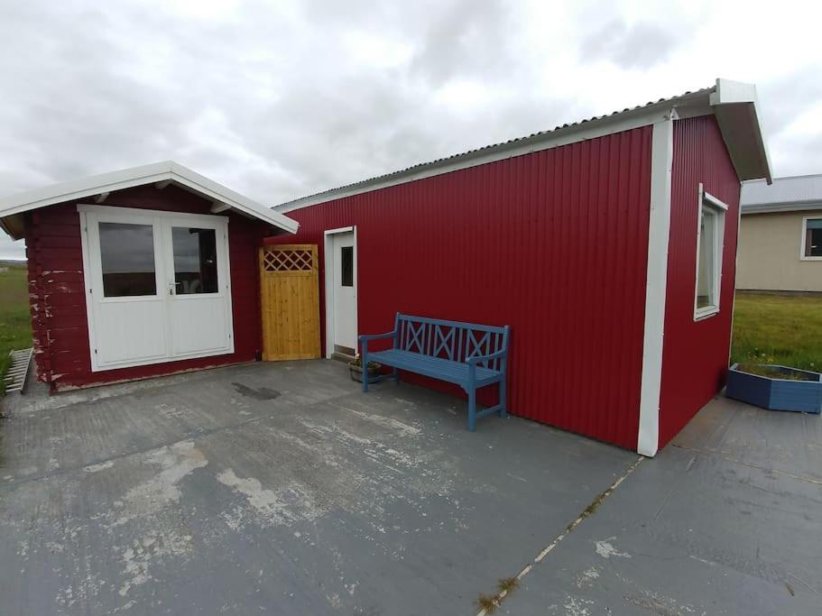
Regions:
<svg viewBox="0 0 822 616"><path fill-rule="evenodd" d="M20 239L23 235L20 215L25 212L64 201L104 195L123 188L163 182L176 184L180 188L214 201L212 210L215 212L233 209L239 214L262 220L289 233L296 233L300 226L296 220L246 198L231 188L217 184L180 163L162 161L90 178L72 179L45 188L27 190L12 197L0 198L0 227L14 239Z"/></svg>

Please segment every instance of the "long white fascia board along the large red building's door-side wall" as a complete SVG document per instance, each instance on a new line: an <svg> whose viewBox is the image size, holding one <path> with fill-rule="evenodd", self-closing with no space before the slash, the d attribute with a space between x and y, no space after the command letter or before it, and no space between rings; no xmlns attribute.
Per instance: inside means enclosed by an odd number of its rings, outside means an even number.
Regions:
<svg viewBox="0 0 822 616"><path fill-rule="evenodd" d="M444 173L450 173L451 171L484 165L489 162L503 161L513 158L514 156L531 154L532 152L550 150L571 143L604 137L608 134L630 131L634 128L648 126L649 124L655 124L667 119L670 117L670 110L672 108L679 109L682 107L684 111L687 110L686 116L688 117L710 114L712 113L712 109L708 105L708 94L708 91L694 92L683 95L682 97L661 101L654 105L642 106L617 114L605 115L596 120L570 124L548 133L536 134L513 143L501 143L475 152L458 154L450 159L430 162L410 170L390 174L387 177L382 176L380 178L366 179L365 181L357 182L347 187L334 188L317 195L287 201L278 206L274 206L274 209L282 213L291 212L301 207L314 206L332 199L352 197L365 192L371 192L372 190L388 188L417 179L430 178Z"/></svg>

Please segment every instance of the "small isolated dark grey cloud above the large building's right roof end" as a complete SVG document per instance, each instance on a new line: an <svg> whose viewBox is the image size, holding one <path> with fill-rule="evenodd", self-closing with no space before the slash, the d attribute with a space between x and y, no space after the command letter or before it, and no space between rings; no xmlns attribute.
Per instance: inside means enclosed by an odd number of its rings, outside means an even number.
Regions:
<svg viewBox="0 0 822 616"><path fill-rule="evenodd" d="M654 23L626 24L621 19L606 23L584 39L584 60L609 60L623 69L649 69L666 60L679 43L679 34Z"/></svg>

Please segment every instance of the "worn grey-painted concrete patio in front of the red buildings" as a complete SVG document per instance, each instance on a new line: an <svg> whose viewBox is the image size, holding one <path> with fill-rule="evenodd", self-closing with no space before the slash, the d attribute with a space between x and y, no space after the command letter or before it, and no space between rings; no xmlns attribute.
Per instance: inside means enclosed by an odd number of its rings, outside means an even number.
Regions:
<svg viewBox="0 0 822 616"><path fill-rule="evenodd" d="M527 565L498 613L822 611L818 417L717 399L636 464L328 361L5 404L3 614L474 614Z"/></svg>

